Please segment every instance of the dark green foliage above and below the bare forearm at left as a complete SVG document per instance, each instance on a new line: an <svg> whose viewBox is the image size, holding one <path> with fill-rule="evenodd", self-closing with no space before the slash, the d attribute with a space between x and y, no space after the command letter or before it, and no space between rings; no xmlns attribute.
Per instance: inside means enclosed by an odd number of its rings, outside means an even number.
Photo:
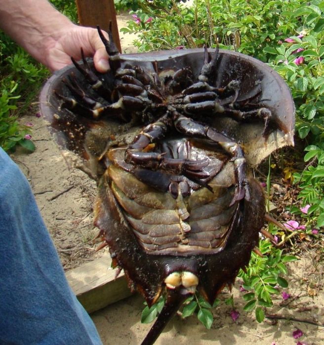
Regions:
<svg viewBox="0 0 324 345"><path fill-rule="evenodd" d="M75 1L52 0L54 6L77 22ZM0 146L8 151L21 145L35 150L25 136L30 129L20 125L18 117L37 97L48 70L32 59L7 35L0 32Z"/></svg>

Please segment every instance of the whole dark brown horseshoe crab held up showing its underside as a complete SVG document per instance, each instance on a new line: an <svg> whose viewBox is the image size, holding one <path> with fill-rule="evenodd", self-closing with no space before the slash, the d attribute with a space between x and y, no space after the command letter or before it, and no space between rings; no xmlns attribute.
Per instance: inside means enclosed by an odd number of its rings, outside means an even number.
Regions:
<svg viewBox="0 0 324 345"><path fill-rule="evenodd" d="M240 53L120 56L102 39L111 71L73 60L48 80L40 108L98 180L101 247L149 306L166 294L142 343L153 344L188 296L212 304L248 265L265 217L251 168L293 145L294 104L274 70Z"/></svg>

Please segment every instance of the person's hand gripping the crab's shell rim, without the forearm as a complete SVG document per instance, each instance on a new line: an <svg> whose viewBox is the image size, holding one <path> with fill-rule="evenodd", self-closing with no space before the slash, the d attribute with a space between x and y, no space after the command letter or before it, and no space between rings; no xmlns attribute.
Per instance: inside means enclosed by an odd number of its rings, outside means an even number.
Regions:
<svg viewBox="0 0 324 345"><path fill-rule="evenodd" d="M74 24L68 25L55 35L55 40L47 47L43 63L52 71L62 69L71 65L71 57L76 61L81 59L81 47L86 57L93 57L94 66L99 72L107 72L110 68L108 54L98 31Z"/></svg>

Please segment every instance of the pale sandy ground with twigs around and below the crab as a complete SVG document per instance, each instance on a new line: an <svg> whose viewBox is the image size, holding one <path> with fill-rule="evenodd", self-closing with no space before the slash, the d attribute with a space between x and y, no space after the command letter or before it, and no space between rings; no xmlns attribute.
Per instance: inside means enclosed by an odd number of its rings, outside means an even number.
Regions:
<svg viewBox="0 0 324 345"><path fill-rule="evenodd" d="M125 26L128 19L129 16L119 16L119 28ZM121 35L124 52L133 51L133 39L134 36ZM101 255L95 253L92 243L96 234L92 225L96 186L84 173L69 168L48 134L43 119L35 116L36 112L32 111L21 119L23 123L32 122L34 125L36 151L31 154L18 151L12 158L28 177L62 264L69 270ZM283 303L281 295L278 295L275 307L268 311L283 315L285 319L266 320L258 324L253 314L243 311L243 299L235 298L235 308L241 313L236 322L230 317L232 307L222 302L213 311L215 320L210 330L206 330L195 316L185 320L177 316L167 325L156 344L247 345L257 342L259 345L271 345L275 342L276 345L290 345L298 342L292 337L296 328L304 333L299 339L301 344L324 344L323 327L289 320L294 317L323 324L321 279L322 264L315 264L310 253L307 259L291 265L287 290L290 299ZM236 283L233 290L235 297L240 294L238 286ZM224 301L229 296L229 292L225 291L220 299ZM142 297L135 295L93 313L91 316L103 344L140 344L151 327L140 323L143 308Z"/></svg>

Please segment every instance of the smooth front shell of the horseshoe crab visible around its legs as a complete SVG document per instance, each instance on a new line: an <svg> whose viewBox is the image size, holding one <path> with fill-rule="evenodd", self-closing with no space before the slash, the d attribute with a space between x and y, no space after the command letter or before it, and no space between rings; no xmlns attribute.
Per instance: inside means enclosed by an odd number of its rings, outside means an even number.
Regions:
<svg viewBox="0 0 324 345"><path fill-rule="evenodd" d="M163 72L186 66L190 67L197 77L202 69L204 53L202 49L159 51L122 55L121 61L122 66L137 65L152 72L154 71L152 63L155 61ZM81 158L78 167L94 177L97 176L96 158L105 152L111 137L124 136L123 140L130 142L138 129L133 128L133 132L128 133L129 124L121 125L112 120L94 121L61 109L60 100L55 96L54 90L64 94L66 91L62 79L71 73L75 73L80 78L82 86L88 87L75 67L62 69L54 73L44 85L40 94L40 110L49 122L50 129L62 150L75 152L77 157ZM113 76L108 73L105 78L111 83ZM233 79L241 81L243 90L240 94L241 99L255 93L256 87L260 89L262 106L271 110L277 122L277 129L268 137L263 137L262 121L239 123L228 118L215 119L214 127L220 130L226 128L229 136L242 143L248 164L256 167L271 152L286 145L293 145L294 103L288 87L273 69L249 56L220 50L220 63L214 84L223 87ZM125 132L128 134L125 135Z"/></svg>

